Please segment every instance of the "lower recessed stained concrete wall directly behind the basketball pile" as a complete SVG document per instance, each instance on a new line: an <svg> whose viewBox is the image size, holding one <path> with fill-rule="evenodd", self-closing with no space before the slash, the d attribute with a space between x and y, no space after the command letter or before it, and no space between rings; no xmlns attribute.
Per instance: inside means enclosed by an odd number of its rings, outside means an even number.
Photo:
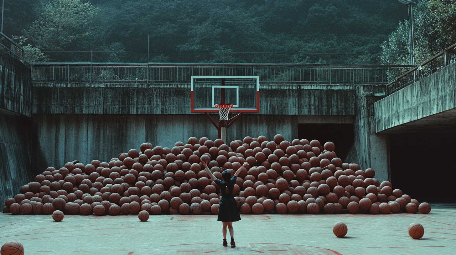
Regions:
<svg viewBox="0 0 456 255"><path fill-rule="evenodd" d="M145 142L172 148L177 141L187 142L192 136L217 139L217 129L201 114L34 114L32 117L35 130L33 163L39 171L48 166L61 167L73 160L109 162L119 153L139 149ZM218 119L217 115L212 117ZM265 135L272 140L280 133L291 141L297 138L297 123L302 118L244 114L228 129L227 139Z"/></svg>

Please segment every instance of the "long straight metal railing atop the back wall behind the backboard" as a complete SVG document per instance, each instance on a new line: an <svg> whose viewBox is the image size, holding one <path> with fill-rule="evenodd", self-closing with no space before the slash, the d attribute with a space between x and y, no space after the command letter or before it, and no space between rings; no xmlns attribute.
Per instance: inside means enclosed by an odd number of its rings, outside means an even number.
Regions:
<svg viewBox="0 0 456 255"><path fill-rule="evenodd" d="M189 82L193 75L258 75L260 82L386 84L413 66L222 63L33 63L33 82Z"/></svg>

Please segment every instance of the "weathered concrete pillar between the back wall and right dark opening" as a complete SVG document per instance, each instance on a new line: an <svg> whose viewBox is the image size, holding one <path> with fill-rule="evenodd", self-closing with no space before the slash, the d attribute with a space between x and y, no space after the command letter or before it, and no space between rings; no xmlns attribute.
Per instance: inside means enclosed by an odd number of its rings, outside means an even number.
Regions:
<svg viewBox="0 0 456 255"><path fill-rule="evenodd" d="M380 182L390 180L389 135L375 133L373 104L384 97L384 87L359 85L355 99L355 149L361 169L373 168Z"/></svg>

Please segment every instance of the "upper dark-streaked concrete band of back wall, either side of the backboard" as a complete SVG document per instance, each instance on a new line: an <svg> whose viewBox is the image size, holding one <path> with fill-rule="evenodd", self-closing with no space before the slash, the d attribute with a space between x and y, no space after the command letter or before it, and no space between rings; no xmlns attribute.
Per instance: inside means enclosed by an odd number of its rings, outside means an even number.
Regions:
<svg viewBox="0 0 456 255"><path fill-rule="evenodd" d="M190 83L34 83L36 114L190 114ZM260 112L354 115L353 85L260 84Z"/></svg>

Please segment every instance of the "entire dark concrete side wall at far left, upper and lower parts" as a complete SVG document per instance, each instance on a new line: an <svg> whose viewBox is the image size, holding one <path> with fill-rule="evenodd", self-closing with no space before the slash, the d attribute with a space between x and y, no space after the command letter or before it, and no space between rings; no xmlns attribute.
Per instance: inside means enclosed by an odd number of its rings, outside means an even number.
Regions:
<svg viewBox="0 0 456 255"><path fill-rule="evenodd" d="M31 72L0 51L0 209L31 181ZM26 117L28 116L28 117Z"/></svg>

